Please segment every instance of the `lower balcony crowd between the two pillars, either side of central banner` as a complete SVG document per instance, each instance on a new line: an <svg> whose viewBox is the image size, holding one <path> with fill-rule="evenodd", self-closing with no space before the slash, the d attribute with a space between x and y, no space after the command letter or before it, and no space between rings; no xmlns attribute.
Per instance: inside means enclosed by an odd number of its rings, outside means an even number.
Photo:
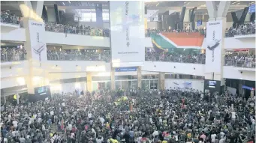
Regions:
<svg viewBox="0 0 256 143"><path fill-rule="evenodd" d="M110 61L110 50L48 50L47 58L52 61ZM172 61L205 64L205 54L177 54L168 52L145 52L146 61Z"/></svg>

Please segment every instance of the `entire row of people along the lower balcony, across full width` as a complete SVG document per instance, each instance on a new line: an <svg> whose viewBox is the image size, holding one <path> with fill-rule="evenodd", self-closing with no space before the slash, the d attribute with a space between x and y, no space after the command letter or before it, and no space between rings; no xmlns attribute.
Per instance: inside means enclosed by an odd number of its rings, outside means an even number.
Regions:
<svg viewBox="0 0 256 143"><path fill-rule="evenodd" d="M26 49L23 46L1 48L1 61L23 61L26 59ZM47 50L47 59L51 61L110 61L109 49ZM205 64L205 54L182 54L178 52L145 52L145 61L170 61L180 63ZM255 55L248 52L227 53L225 66L255 67Z"/></svg>

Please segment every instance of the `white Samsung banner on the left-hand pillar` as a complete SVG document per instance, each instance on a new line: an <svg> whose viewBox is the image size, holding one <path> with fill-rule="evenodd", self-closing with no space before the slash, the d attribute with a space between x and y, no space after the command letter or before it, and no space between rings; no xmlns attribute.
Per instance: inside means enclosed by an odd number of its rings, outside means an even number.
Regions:
<svg viewBox="0 0 256 143"><path fill-rule="evenodd" d="M47 61L47 45L45 43L44 22L29 19L29 36L32 52L32 60L36 67L42 67L42 63ZM34 64L33 64L34 66Z"/></svg>

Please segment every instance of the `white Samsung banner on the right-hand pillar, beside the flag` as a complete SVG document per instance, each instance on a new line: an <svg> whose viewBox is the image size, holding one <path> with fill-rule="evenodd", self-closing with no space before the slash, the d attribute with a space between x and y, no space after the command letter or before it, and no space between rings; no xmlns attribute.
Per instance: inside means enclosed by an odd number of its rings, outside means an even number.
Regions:
<svg viewBox="0 0 256 143"><path fill-rule="evenodd" d="M209 21L206 27L206 73L221 73L222 20Z"/></svg>

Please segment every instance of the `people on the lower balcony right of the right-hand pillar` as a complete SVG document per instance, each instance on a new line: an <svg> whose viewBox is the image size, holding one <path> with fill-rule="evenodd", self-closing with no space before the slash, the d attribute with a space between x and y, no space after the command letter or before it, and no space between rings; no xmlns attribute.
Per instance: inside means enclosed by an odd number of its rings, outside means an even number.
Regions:
<svg viewBox="0 0 256 143"><path fill-rule="evenodd" d="M225 55L224 60L226 66L255 68L255 55L248 53L233 52Z"/></svg>

